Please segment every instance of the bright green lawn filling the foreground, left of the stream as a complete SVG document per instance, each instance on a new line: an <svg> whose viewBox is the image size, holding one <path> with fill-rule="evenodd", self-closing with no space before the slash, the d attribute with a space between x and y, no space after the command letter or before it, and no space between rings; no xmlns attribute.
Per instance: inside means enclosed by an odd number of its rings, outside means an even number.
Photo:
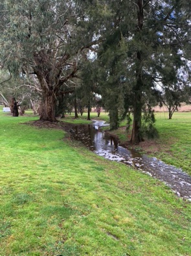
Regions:
<svg viewBox="0 0 191 256"><path fill-rule="evenodd" d="M0 109L1 256L190 255L188 201L146 174L94 155L61 130L23 124L37 119ZM161 140L173 138L172 149L184 149L173 136L183 125L171 121L165 130L168 120L159 116Z"/></svg>

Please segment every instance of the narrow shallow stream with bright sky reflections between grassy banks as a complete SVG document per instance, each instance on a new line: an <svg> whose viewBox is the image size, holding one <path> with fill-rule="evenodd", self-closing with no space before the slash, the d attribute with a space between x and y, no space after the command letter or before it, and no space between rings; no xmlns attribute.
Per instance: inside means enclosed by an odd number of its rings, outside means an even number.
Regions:
<svg viewBox="0 0 191 256"><path fill-rule="evenodd" d="M188 174L175 166L164 164L163 161L155 157L147 157L135 150L119 146L115 137L101 131L100 127L103 126L107 126L107 124L102 121L95 121L92 125L76 125L73 138L81 140L97 155L123 162L160 179L170 186L177 196L191 201L191 177Z"/></svg>

